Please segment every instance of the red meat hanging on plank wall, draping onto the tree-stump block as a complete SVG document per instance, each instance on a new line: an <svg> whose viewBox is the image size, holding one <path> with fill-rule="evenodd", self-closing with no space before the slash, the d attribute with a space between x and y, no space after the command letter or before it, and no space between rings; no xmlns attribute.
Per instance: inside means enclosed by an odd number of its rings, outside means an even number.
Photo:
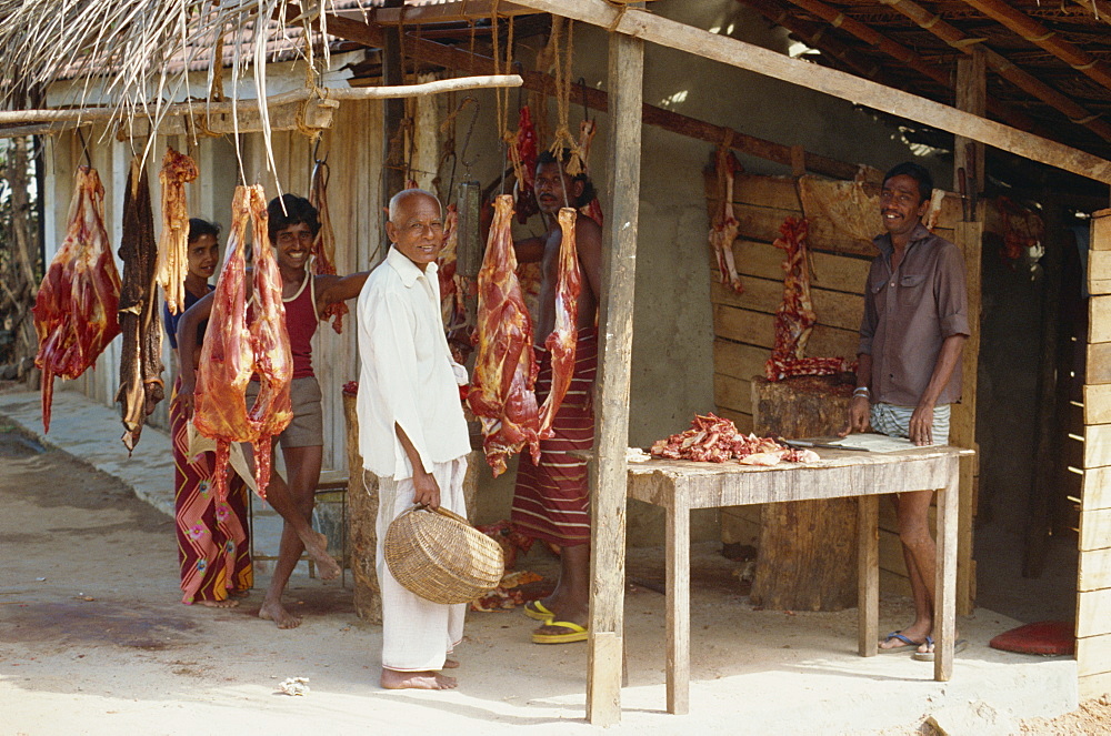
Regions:
<svg viewBox="0 0 1111 736"><path fill-rule="evenodd" d="M775 246L783 260L783 301L775 310L775 344L764 365L769 381L795 375L832 375L852 369L842 357L805 357L807 342L818 322L810 299L810 263L807 250L807 220L788 218L780 225Z"/></svg>

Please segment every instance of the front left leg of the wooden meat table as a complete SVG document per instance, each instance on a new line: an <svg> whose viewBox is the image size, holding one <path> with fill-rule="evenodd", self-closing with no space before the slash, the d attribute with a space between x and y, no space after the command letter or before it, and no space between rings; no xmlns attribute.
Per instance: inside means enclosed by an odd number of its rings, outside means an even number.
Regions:
<svg viewBox="0 0 1111 736"><path fill-rule="evenodd" d="M668 510L668 713L677 715L690 710L690 517L684 504Z"/></svg>

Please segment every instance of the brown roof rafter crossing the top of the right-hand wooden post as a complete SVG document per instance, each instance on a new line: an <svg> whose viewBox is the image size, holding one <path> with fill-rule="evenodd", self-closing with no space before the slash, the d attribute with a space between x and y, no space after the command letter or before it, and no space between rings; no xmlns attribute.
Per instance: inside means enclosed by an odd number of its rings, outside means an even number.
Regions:
<svg viewBox="0 0 1111 736"><path fill-rule="evenodd" d="M941 17L935 16L913 0L880 0L880 2L894 8L903 16L918 23L920 28L930 31L962 53L970 54L972 52L971 47L980 43L979 39L965 36L955 26L945 22L941 19ZM1098 114L1085 110L1081 105L1073 102L1070 98L1054 90L1052 87L1039 81L1029 72L1019 69L1004 57L995 51L992 51L987 46L982 43L980 43L980 46L984 50L984 58L988 61L988 65L991 67L997 74L1011 82L1023 92L1032 94L1045 104L1057 109L1072 122L1088 128L1105 141L1111 141L1111 125L1101 120Z"/></svg>

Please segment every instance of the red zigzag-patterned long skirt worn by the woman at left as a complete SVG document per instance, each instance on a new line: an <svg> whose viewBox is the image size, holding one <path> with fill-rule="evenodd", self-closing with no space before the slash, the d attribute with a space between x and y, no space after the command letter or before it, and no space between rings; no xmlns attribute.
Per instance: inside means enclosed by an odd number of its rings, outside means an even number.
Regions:
<svg viewBox="0 0 1111 736"><path fill-rule="evenodd" d="M226 601L229 591L249 591L254 584L247 543L247 484L232 473L228 501L217 498L216 453L189 456L189 420L178 401L179 384L180 379L170 400L170 437L181 602Z"/></svg>

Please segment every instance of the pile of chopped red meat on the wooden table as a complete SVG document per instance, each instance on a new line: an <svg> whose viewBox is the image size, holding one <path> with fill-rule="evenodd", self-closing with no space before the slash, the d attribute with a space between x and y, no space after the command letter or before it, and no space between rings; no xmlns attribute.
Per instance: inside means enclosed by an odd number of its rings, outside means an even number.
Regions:
<svg viewBox="0 0 1111 736"><path fill-rule="evenodd" d="M780 462L812 463L820 460L812 450L795 450L771 437L741 434L730 420L708 414L697 415L691 429L659 440L652 445L652 457L691 460L697 463L724 463L735 460L742 465L778 465Z"/></svg>

